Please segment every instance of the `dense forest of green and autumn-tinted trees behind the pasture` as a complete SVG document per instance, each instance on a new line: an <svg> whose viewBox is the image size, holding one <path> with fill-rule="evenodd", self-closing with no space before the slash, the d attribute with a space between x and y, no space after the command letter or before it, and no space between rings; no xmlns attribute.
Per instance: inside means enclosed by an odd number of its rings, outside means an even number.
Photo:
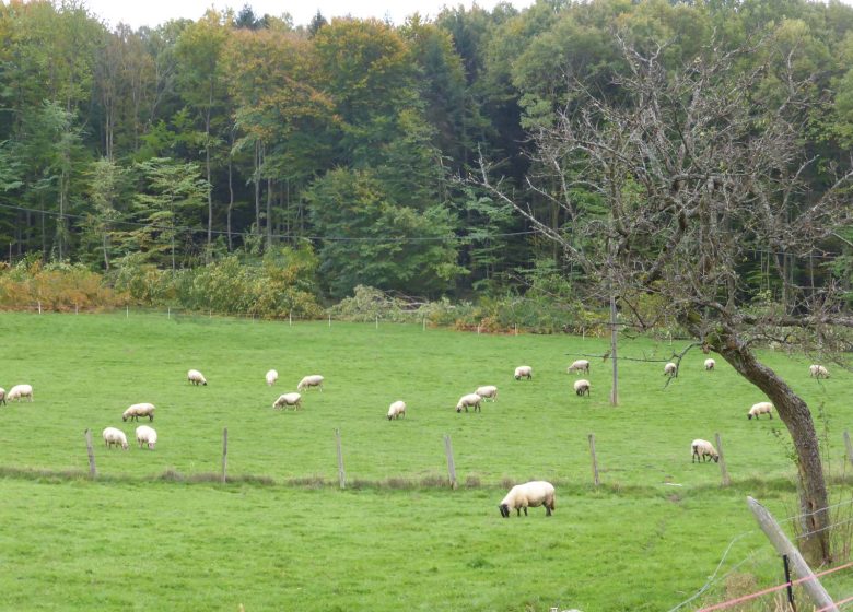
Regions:
<svg viewBox="0 0 853 612"><path fill-rule="evenodd" d="M783 67L806 83L801 138L819 160L808 190L850 165L853 8L837 1L539 0L397 27L320 14L294 26L246 7L133 31L73 1L13 0L0 4L2 256L117 273L309 247L331 297L357 284L436 296L523 287L529 274L573 281L556 243L469 177L490 161L491 181L571 233L546 197L558 186L527 181L560 180L530 134L591 96L631 103L618 39L659 46L671 68L761 40L732 70L770 66L753 92L767 99L786 86ZM595 189L564 196L606 205ZM845 282L851 244L839 227L814 257L756 250L738 264L783 299L766 267L792 284Z"/></svg>

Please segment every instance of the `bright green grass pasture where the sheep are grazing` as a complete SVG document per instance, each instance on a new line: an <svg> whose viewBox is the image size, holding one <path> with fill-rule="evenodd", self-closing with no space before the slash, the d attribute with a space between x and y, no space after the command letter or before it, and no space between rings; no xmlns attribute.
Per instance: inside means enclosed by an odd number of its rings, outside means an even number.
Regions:
<svg viewBox="0 0 853 612"><path fill-rule="evenodd" d="M747 421L764 398L722 360L703 372L699 351L667 388L663 363L620 362L614 409L609 362L592 360L591 398L575 397L576 376L565 374L573 358L607 349L598 339L132 313L2 314L0 327L0 386L35 389L32 404L0 407L2 610L669 610L744 532L720 569L751 554L732 577L740 586L715 585L696 603L782 581L744 498L794 514L787 435L778 420ZM665 360L681 346L622 340L620 354ZM830 367L819 382L805 357L763 357L809 402L840 473L853 376ZM521 364L533 380L513 379ZM207 387L186 381L190 367ZM324 391L305 391L303 410L271 409L314 373ZM456 414L459 396L486 384L499 387L498 401ZM396 399L407 416L388 422ZM121 412L142 401L157 407L156 450L107 451L100 432L132 438ZM56 473L86 469L86 427L96 482ZM223 427L236 482L157 478L217 472ZM347 491L337 489L334 428ZM716 464L690 462L690 442L715 432L727 489ZM446 478L445 434L457 491L428 485ZM536 508L501 519L510 481L534 478L557 484L554 517ZM853 591L845 574L827 580L833 595Z"/></svg>

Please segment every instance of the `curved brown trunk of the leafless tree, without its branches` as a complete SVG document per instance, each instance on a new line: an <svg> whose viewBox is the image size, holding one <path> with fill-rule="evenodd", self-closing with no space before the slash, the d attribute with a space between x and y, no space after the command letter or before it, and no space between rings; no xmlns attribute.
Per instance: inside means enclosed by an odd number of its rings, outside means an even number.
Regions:
<svg viewBox="0 0 853 612"><path fill-rule="evenodd" d="M827 485L820 460L820 446L808 405L775 372L759 363L752 351L734 331L718 331L713 349L732 364L740 376L767 395L787 427L794 443L799 472L799 509L801 514L806 515L801 519L804 534L801 549L813 564L831 561Z"/></svg>

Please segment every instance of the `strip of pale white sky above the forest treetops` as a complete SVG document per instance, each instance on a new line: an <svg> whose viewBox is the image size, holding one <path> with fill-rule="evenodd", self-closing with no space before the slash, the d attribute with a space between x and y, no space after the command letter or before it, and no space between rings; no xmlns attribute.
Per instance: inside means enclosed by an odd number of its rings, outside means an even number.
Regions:
<svg viewBox="0 0 853 612"><path fill-rule="evenodd" d="M511 4L523 9L534 0L512 0ZM305 25L319 9L327 20L335 16L390 17L395 24L418 12L422 16L435 16L442 7L459 4L470 8L471 0L84 0L90 11L102 21L115 26L119 22L132 27L155 26L171 19L187 17L197 20L211 5L217 10L227 7L239 11L249 4L256 15L268 13L279 16L290 13L295 25ZM498 0L478 0L477 4L491 10Z"/></svg>

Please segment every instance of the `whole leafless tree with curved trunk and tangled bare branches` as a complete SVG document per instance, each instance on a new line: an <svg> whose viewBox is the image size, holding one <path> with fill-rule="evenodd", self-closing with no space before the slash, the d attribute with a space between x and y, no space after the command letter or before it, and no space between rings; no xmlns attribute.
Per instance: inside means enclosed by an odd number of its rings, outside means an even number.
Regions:
<svg viewBox="0 0 853 612"><path fill-rule="evenodd" d="M627 67L620 96L603 99L572 82L571 107L530 134L526 197L559 205L566 220L561 228L494 181L488 166L478 183L561 245L584 271L589 298L604 304L616 295L644 328L673 317L773 401L796 449L809 533L804 549L813 560L829 560L827 489L811 413L753 348L774 339L829 350L838 327L853 325L831 279L804 287L791 273L794 258L814 257L850 222L843 195L851 175L821 161L822 176L831 178L819 193L807 189L818 164L803 145L814 87L794 79L790 56L772 58L764 46L769 61L756 66L744 61L756 49L710 46L673 69L661 46L643 52L619 43ZM768 83L774 86L759 86ZM745 279L745 262L759 256L772 262L783 301ZM641 307L648 299L661 305L651 319Z"/></svg>

